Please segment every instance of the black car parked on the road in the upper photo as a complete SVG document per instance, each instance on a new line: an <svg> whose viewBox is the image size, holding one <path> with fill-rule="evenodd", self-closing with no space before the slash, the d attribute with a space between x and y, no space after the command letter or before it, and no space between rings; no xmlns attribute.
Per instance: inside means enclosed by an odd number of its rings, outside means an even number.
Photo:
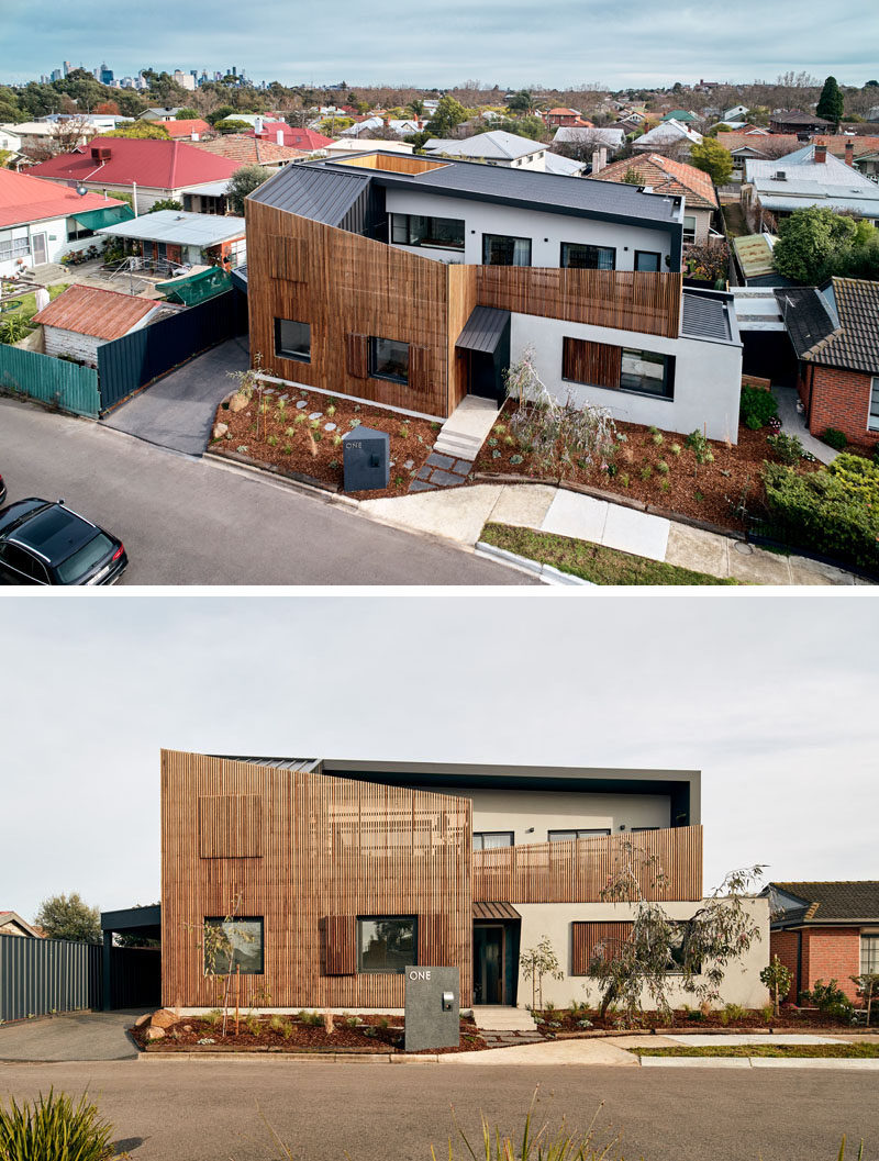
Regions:
<svg viewBox="0 0 879 1161"><path fill-rule="evenodd" d="M122 541L64 500L31 497L0 509L0 585L115 584L127 568Z"/></svg>

